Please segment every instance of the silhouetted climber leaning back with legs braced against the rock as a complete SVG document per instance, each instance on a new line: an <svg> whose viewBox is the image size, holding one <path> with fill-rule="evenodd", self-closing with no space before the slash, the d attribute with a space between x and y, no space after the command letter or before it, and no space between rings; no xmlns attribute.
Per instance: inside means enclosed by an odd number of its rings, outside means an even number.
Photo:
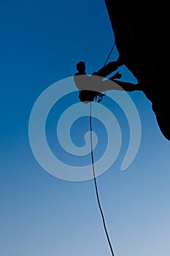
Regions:
<svg viewBox="0 0 170 256"><path fill-rule="evenodd" d="M80 91L80 101L85 103L93 102L94 99L99 97L98 102L100 102L105 95L102 92L109 90L141 90L141 86L139 86L138 83L134 85L134 83L117 80L122 77L119 72L111 78L107 78L108 75L122 65L123 61L118 58L117 61L109 62L109 64L104 65L104 67L101 67L97 72L93 72L92 75L87 75L85 72L85 61L79 61L76 66L78 72L74 74L74 83Z"/></svg>

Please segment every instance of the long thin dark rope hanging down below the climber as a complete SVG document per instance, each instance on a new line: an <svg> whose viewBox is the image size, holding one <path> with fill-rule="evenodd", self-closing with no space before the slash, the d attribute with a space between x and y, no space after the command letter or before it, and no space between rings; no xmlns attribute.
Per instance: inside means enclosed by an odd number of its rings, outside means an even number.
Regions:
<svg viewBox="0 0 170 256"><path fill-rule="evenodd" d="M112 256L115 256L114 252L113 252L113 249L112 249L112 244L109 240L109 234L107 232L107 227L106 227L106 223L105 223L105 220L104 220L104 214L103 214L103 211L102 211L102 208L101 208L101 203L100 203L99 196L98 196L98 187L97 187L97 182L96 182L96 174L95 174L94 158L93 158L92 132L93 132L93 129L92 129L92 102L90 102L90 146L91 146L91 160L92 160L92 167L93 167L93 179L94 179L94 184L95 184L95 189L96 189L96 197L97 197L97 201L98 201L98 207L99 207L100 212L101 212L101 218L102 218L103 225L104 225L104 230L105 230L105 233L106 233L106 236L107 236L107 241L109 243L109 247L110 247Z"/></svg>

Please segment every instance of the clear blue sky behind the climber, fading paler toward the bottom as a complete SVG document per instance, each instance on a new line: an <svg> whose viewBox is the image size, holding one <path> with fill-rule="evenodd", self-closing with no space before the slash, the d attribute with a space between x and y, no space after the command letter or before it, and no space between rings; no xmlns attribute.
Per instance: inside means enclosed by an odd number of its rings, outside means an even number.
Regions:
<svg viewBox="0 0 170 256"><path fill-rule="evenodd" d="M74 75L77 61L86 61L91 73L107 59L114 34L104 1L1 0L0 23L0 255L109 256L93 180L51 176L36 161L28 139L31 109L42 91ZM117 56L115 48L110 61ZM123 80L136 83L125 67L119 71ZM120 154L97 178L101 205L115 256L169 256L170 143L161 134L151 102L140 91L129 95L142 124L141 144L134 162L121 172L128 126L121 127ZM71 97L61 106L69 104ZM108 99L102 104L108 107ZM62 108L55 109L56 117ZM118 113L116 106L112 110ZM73 127L74 140L88 126L83 120ZM55 124L53 118L47 124L53 148ZM104 127L97 124L96 157L107 141ZM77 158L72 162L76 165Z"/></svg>

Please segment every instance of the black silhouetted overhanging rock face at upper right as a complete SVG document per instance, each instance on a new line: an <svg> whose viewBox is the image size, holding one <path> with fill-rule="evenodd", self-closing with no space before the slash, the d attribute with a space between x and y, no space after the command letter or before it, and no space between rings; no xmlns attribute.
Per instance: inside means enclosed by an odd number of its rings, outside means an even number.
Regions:
<svg viewBox="0 0 170 256"><path fill-rule="evenodd" d="M125 66L142 86L170 140L169 2L105 0L115 42Z"/></svg>

